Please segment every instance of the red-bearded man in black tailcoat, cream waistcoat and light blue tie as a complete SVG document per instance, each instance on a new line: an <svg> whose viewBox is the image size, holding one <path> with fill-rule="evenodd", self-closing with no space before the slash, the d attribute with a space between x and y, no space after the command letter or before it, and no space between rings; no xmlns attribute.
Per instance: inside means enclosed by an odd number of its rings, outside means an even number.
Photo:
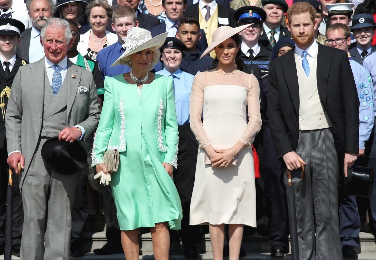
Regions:
<svg viewBox="0 0 376 260"><path fill-rule="evenodd" d="M316 43L315 14L305 2L288 10L296 47L269 63L268 116L293 177L299 259L341 260L338 189L359 151L359 100L346 52Z"/></svg>

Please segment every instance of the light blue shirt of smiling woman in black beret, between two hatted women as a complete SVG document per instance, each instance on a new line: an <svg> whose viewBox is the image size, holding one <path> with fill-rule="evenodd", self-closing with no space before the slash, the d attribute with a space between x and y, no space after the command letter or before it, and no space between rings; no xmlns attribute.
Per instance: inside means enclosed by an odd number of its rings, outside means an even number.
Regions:
<svg viewBox="0 0 376 260"><path fill-rule="evenodd" d="M174 73L170 73L164 68L157 71L156 74L163 76L172 76L174 81L175 107L178 125L185 125L190 122L189 118L189 99L194 76L177 69Z"/></svg>

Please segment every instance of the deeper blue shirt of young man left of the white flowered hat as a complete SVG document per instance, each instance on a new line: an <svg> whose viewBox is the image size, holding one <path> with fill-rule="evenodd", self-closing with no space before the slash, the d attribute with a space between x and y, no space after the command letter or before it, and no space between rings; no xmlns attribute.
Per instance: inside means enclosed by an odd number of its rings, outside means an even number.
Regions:
<svg viewBox="0 0 376 260"><path fill-rule="evenodd" d="M105 76L113 77L130 71L130 68L127 65L116 65L115 67L111 67L111 64L114 63L124 51L125 50L121 47L121 44L117 41L98 52L97 61L103 79Z"/></svg>

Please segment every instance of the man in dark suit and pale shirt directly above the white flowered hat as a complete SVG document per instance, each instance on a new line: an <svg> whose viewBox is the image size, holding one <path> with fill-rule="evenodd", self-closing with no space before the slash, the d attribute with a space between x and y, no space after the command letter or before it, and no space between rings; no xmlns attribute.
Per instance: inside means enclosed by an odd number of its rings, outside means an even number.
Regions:
<svg viewBox="0 0 376 260"><path fill-rule="evenodd" d="M161 33L168 32L168 37L176 37L179 21L183 18L186 9L186 0L163 0L162 7L166 12L166 19L161 24L150 29L152 36L155 37ZM204 30L200 29L202 37L197 43L199 50L204 51L208 48Z"/></svg>

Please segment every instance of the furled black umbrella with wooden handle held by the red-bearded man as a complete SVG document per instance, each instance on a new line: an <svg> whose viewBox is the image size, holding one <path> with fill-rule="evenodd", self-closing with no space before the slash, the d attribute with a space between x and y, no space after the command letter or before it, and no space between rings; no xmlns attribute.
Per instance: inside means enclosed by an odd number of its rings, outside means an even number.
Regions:
<svg viewBox="0 0 376 260"><path fill-rule="evenodd" d="M300 163L302 167L302 173L300 178L304 178L305 167ZM298 226L296 224L296 206L295 206L295 191L293 187L293 176L291 172L287 170L287 211L288 211L288 222L290 227L290 243L291 243L291 257L293 260L299 260L299 244L298 244Z"/></svg>

